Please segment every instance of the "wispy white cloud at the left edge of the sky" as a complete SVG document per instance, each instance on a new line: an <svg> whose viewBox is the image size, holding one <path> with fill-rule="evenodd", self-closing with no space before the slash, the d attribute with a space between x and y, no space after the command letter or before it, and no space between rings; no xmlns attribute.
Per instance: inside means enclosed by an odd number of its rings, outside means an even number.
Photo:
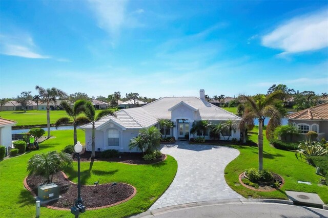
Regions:
<svg viewBox="0 0 328 218"><path fill-rule="evenodd" d="M50 58L37 53L32 37L27 34L0 35L0 53L25 58Z"/></svg>

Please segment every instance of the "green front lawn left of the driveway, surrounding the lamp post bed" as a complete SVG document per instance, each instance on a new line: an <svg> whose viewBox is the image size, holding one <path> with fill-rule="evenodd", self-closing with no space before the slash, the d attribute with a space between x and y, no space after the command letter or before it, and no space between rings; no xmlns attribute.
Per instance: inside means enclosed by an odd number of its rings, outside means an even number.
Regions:
<svg viewBox="0 0 328 218"><path fill-rule="evenodd" d="M29 191L23 187L27 176L26 163L29 158L40 152L61 150L70 144L73 130L58 130L51 132L56 138L40 144L40 150L10 158L0 162L0 208L2 217L35 217L35 200ZM78 130L78 140L85 143L85 134ZM67 176L77 182L77 163L73 168L67 168ZM125 217L147 210L168 188L174 179L177 162L171 156L167 160L149 165L128 165L122 163L96 161L81 163L81 183L93 185L101 178L100 183L124 182L133 185L137 193L133 199L120 205L87 211L81 217ZM82 193L83 197L83 193ZM73 202L72 202L73 204ZM70 211L58 211L41 208L43 217L72 217Z"/></svg>

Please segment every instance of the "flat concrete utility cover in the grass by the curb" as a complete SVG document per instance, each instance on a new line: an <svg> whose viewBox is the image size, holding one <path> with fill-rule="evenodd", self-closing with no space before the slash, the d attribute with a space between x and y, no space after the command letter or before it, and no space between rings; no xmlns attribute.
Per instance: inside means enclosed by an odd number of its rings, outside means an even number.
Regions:
<svg viewBox="0 0 328 218"><path fill-rule="evenodd" d="M288 199L296 204L320 206L324 204L318 194L298 191L286 191Z"/></svg>

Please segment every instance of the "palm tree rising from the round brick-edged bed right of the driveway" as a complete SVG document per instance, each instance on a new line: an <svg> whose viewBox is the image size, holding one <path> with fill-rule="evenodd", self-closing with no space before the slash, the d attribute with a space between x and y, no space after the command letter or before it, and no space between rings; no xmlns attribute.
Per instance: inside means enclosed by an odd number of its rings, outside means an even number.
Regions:
<svg viewBox="0 0 328 218"><path fill-rule="evenodd" d="M277 119L279 111L274 107L273 102L276 99L281 98L283 93L281 91L273 92L267 96L256 95L255 97L249 97L241 95L240 98L245 100L249 106L251 112L253 112L258 119L258 163L259 170L263 170L263 120L265 117L272 117ZM279 122L279 121L275 121Z"/></svg>

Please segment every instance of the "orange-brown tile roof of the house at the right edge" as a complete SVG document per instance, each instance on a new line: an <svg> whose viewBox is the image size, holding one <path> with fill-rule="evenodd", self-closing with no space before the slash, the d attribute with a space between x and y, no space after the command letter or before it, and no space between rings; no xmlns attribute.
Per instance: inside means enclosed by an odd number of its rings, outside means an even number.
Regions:
<svg viewBox="0 0 328 218"><path fill-rule="evenodd" d="M287 115L285 117L296 120L328 120L328 102Z"/></svg>

